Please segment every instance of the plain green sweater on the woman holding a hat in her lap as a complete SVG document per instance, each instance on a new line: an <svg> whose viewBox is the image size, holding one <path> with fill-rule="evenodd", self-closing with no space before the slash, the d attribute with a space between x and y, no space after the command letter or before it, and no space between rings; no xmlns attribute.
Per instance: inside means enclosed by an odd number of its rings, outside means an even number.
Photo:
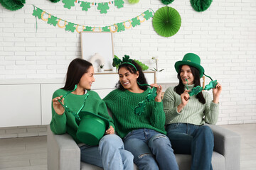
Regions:
<svg viewBox="0 0 256 170"><path fill-rule="evenodd" d="M67 91L63 89L58 89L54 92L53 98L64 95L66 93ZM65 97L64 103L66 106L68 106L68 108L70 108L71 111L77 112L85 101L85 107L82 108L82 111L88 111L107 118L108 120L110 120L110 125L112 125L114 128L113 120L107 113L107 106L104 101L102 101L100 96L95 91L87 91L87 93L89 94L89 96L86 101L84 100L85 96L70 93L68 94L68 96ZM76 137L78 125L75 122L75 116L68 111L65 111L63 115L58 115L53 109L53 103L50 129L55 134L63 134L65 132L68 132L68 134L73 137L75 142L81 143Z"/></svg>

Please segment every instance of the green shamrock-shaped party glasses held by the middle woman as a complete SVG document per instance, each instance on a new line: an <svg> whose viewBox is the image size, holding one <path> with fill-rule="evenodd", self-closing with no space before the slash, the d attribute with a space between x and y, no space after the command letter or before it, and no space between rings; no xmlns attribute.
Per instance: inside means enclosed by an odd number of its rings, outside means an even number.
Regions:
<svg viewBox="0 0 256 170"><path fill-rule="evenodd" d="M137 82L139 84L139 82ZM139 84L139 86L150 86L149 84ZM149 90L149 94L146 96L146 99L144 101L141 101L138 103L138 106L135 107L134 113L136 115L141 115L144 113L144 108L146 108L146 101L153 101L154 98L156 98L156 87L152 87L152 89Z"/></svg>

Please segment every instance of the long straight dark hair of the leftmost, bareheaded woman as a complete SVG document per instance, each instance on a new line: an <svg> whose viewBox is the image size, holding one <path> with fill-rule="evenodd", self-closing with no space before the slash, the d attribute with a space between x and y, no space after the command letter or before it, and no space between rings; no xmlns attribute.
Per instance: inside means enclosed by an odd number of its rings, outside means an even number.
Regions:
<svg viewBox="0 0 256 170"><path fill-rule="evenodd" d="M75 84L78 84L82 75L87 73L92 63L82 60L80 58L74 59L68 66L68 72L66 74L65 86L61 89L71 91L75 88Z"/></svg>

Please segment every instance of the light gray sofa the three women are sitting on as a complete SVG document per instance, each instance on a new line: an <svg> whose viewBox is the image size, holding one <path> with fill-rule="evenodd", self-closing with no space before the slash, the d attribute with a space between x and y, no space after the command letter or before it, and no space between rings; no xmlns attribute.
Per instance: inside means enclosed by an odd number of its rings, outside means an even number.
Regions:
<svg viewBox="0 0 256 170"><path fill-rule="evenodd" d="M218 125L208 126L214 134L213 170L239 170L240 135ZM80 162L80 149L70 135L54 135L49 125L47 131L48 170L102 170ZM191 169L191 155L176 154L176 160L180 170Z"/></svg>

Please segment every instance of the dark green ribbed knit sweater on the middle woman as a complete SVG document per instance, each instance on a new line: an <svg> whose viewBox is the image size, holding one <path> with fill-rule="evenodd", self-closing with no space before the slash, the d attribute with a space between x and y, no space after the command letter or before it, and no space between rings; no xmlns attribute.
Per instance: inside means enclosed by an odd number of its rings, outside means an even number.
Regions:
<svg viewBox="0 0 256 170"><path fill-rule="evenodd" d="M164 133L165 115L163 103L156 101L146 101L144 113L136 115L134 108L139 102L144 101L149 94L149 88L142 94L135 94L128 90L121 91L115 89L111 91L103 101L112 112L112 118L118 135L123 138L128 132L140 128L147 128Z"/></svg>

